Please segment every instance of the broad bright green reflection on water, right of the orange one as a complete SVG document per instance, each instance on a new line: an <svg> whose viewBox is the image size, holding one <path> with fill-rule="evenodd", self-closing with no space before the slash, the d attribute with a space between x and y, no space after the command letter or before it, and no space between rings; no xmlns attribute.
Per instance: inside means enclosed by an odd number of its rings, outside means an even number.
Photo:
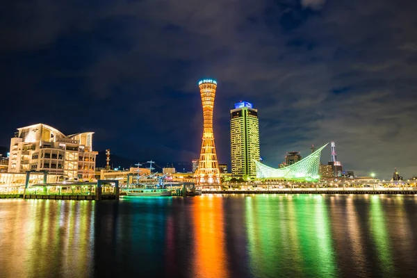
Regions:
<svg viewBox="0 0 417 278"><path fill-rule="evenodd" d="M245 218L255 277L337 275L327 204L320 195L246 197Z"/></svg>

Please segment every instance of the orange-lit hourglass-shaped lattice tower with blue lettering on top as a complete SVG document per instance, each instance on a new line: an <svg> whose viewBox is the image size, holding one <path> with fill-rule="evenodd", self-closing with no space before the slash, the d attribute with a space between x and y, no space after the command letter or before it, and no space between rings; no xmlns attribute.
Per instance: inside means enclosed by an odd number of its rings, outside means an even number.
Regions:
<svg viewBox="0 0 417 278"><path fill-rule="evenodd" d="M220 170L215 152L213 134L213 108L217 82L213 79L199 81L199 90L203 106L203 138L198 169L195 171L197 184L220 183Z"/></svg>

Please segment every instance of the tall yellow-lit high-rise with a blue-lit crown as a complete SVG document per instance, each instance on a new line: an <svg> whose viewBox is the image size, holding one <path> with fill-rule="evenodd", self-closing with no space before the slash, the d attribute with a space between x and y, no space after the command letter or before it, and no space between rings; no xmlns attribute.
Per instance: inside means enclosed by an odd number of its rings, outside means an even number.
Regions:
<svg viewBox="0 0 417 278"><path fill-rule="evenodd" d="M255 161L260 161L258 111L240 101L230 111L231 174L243 179L256 177Z"/></svg>

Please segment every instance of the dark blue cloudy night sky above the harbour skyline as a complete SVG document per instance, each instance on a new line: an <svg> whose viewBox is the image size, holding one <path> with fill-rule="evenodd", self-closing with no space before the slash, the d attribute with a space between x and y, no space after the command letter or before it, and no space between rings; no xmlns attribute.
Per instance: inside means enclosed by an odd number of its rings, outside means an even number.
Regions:
<svg viewBox="0 0 417 278"><path fill-rule="evenodd" d="M6 6L4 6L6 5ZM95 131L94 149L145 161L199 157L197 82L218 81L214 131L259 109L261 156L335 141L357 175L417 175L417 2L39 0L0 11L0 146L42 122ZM322 152L322 162L330 149Z"/></svg>

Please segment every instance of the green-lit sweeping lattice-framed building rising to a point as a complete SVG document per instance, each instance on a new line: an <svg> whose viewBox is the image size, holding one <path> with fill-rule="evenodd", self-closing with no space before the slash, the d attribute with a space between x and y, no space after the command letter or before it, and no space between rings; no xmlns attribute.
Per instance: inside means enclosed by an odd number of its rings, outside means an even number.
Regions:
<svg viewBox="0 0 417 278"><path fill-rule="evenodd" d="M284 168L272 168L259 161L256 164L256 177L258 179L285 179L285 180L301 180L301 181L318 181L318 170L320 167L320 154L324 145L317 149L316 152L310 154L302 161L298 161L293 165Z"/></svg>

